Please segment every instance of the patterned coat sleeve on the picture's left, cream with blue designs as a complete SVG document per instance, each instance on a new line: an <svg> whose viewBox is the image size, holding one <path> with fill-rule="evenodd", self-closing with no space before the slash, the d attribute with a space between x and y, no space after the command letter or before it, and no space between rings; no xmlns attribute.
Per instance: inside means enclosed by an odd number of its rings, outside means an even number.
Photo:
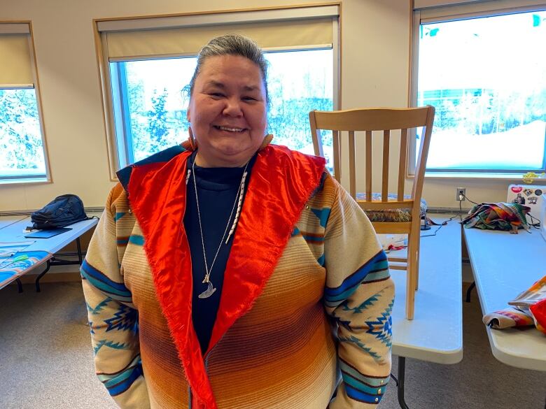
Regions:
<svg viewBox="0 0 546 409"><path fill-rule="evenodd" d="M87 305L95 371L123 409L150 407L142 374L138 313L120 272L116 222L123 213L113 206L113 193L97 224L80 268Z"/></svg>

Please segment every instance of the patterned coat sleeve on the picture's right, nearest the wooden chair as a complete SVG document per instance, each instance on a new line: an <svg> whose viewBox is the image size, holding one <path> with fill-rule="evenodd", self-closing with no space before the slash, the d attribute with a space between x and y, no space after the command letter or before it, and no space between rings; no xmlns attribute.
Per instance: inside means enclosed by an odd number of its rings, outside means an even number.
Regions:
<svg viewBox="0 0 546 409"><path fill-rule="evenodd" d="M377 408L391 373L394 283L370 220L329 176L325 310L337 323L342 382L330 409Z"/></svg>

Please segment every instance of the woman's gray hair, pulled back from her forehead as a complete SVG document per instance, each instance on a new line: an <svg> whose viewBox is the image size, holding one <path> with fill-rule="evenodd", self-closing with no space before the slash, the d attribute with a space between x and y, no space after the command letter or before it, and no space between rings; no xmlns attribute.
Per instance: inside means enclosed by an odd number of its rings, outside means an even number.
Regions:
<svg viewBox="0 0 546 409"><path fill-rule="evenodd" d="M193 94L193 86L195 78L201 72L201 68L207 58L220 55L237 55L251 60L258 66L262 72L263 86L265 89L265 101L269 103L269 93L267 92L267 59L265 59L260 46L251 40L251 38L241 36L240 34L225 34L213 38L205 45L199 55L197 55L197 66L193 72L193 77L190 81L190 98Z"/></svg>

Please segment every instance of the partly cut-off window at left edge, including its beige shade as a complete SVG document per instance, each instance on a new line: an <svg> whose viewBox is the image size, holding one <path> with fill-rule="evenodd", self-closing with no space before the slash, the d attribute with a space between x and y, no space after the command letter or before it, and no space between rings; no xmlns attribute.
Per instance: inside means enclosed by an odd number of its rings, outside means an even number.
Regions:
<svg viewBox="0 0 546 409"><path fill-rule="evenodd" d="M29 33L0 23L0 183L48 180Z"/></svg>

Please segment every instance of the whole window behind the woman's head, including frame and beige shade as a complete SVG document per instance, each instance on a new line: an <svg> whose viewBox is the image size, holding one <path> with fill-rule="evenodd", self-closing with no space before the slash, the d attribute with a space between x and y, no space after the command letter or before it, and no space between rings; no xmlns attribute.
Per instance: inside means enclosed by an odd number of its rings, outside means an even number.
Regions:
<svg viewBox="0 0 546 409"><path fill-rule="evenodd" d="M119 21L100 22L108 67L103 80L111 93L105 104L111 119L111 167L123 168L188 138L188 84L195 56L210 38L232 32L254 38L265 51L268 131L274 143L313 153L309 111L337 106L337 6L309 9L314 10L310 20L294 17L294 10L230 14L241 24L229 27L223 14L209 16L205 27L187 21L195 16L174 17L169 28L162 27L163 17L144 19L158 26L146 31L135 29L146 25L137 20L125 20L125 31ZM286 20L287 15L293 19Z"/></svg>

